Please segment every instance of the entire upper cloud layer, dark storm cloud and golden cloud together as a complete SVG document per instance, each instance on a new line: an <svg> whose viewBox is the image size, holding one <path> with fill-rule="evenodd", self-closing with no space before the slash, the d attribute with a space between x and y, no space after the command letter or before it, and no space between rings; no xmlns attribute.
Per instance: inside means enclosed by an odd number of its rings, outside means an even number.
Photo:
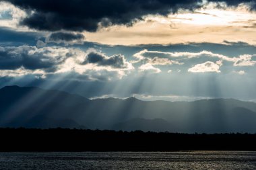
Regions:
<svg viewBox="0 0 256 170"><path fill-rule="evenodd" d="M205 40L255 44L255 1L5 0L0 7L0 26L52 32L58 40L50 41L58 44L82 44L77 32L89 42L111 45Z"/></svg>

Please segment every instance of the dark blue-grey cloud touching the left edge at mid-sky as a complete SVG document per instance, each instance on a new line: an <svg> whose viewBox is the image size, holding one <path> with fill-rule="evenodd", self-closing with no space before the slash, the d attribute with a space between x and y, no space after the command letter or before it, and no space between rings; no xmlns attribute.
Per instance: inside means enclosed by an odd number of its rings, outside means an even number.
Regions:
<svg viewBox="0 0 256 170"><path fill-rule="evenodd" d="M39 51L34 46L1 47L0 70L24 69L53 69L61 62L61 57L47 55L47 50Z"/></svg>

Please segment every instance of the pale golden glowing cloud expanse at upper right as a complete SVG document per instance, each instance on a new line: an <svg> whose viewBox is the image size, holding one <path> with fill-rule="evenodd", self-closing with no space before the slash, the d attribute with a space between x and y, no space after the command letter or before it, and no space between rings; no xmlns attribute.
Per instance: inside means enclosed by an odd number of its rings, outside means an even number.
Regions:
<svg viewBox="0 0 256 170"><path fill-rule="evenodd" d="M147 15L131 27L111 26L85 35L88 41L111 45L223 43L225 40L256 44L256 13L246 4L219 5L207 3L193 12L180 10L166 17Z"/></svg>

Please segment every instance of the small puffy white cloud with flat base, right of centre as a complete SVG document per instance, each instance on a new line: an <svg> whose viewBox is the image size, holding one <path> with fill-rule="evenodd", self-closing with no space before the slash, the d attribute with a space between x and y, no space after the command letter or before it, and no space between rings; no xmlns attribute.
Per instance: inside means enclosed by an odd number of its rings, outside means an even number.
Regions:
<svg viewBox="0 0 256 170"><path fill-rule="evenodd" d="M207 61L202 64L195 65L194 67L188 69L191 73L205 73L205 72L216 72L220 73L220 65L212 62Z"/></svg>

